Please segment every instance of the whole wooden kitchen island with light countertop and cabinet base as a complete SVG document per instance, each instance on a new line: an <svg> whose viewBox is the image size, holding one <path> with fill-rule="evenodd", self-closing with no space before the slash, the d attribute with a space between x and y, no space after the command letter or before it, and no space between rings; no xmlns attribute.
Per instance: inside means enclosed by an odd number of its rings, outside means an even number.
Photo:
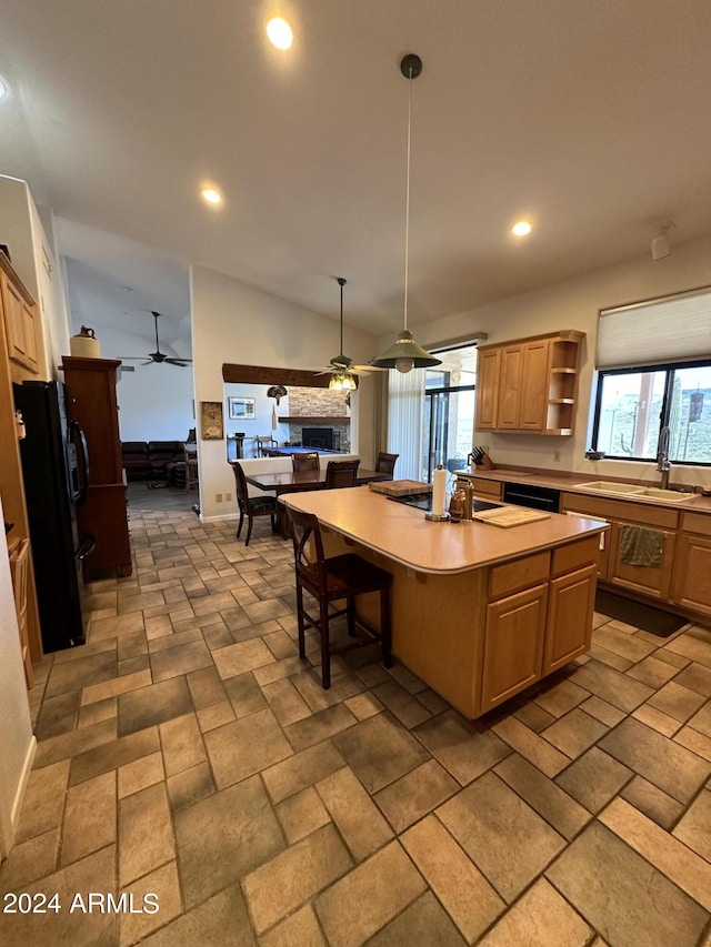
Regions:
<svg viewBox="0 0 711 947"><path fill-rule="evenodd" d="M393 654L470 718L590 646L603 522L437 523L367 487L284 501L318 516L328 555L392 573ZM374 601L362 611L377 624Z"/></svg>

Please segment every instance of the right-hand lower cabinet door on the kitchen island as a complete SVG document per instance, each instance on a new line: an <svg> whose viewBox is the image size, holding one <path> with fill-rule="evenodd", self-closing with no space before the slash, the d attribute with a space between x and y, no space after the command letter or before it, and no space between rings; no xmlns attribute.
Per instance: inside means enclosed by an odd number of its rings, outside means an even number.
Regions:
<svg viewBox="0 0 711 947"><path fill-rule="evenodd" d="M595 605L597 566L553 578L549 587L543 674L588 651Z"/></svg>

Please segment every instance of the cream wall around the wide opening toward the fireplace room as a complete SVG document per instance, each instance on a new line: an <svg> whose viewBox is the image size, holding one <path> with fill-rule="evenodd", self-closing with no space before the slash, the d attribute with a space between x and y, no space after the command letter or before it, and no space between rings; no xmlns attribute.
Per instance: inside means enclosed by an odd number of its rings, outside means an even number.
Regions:
<svg viewBox="0 0 711 947"><path fill-rule="evenodd" d="M192 266L192 357L196 403L223 400L222 365L226 362L272 367L314 369L328 365L338 351L337 320L317 315L243 283ZM363 363L377 351L375 340L363 332L344 329L343 344L356 362ZM362 379L352 399L351 450L364 467L373 464L374 387ZM242 429L240 429L242 430ZM202 441L198 431L200 504L210 518L237 512L237 504L217 503L217 493L231 492L234 476L226 463L224 441Z"/></svg>

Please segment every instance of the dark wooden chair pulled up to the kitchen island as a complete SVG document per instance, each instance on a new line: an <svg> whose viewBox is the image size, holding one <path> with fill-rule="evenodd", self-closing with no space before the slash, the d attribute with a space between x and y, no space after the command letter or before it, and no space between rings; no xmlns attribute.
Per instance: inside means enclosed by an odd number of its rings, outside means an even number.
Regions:
<svg viewBox="0 0 711 947"><path fill-rule="evenodd" d="M390 585L392 575L368 562L356 553L326 557L323 540L318 517L312 513L287 507L287 516L293 541L294 573L297 585L297 626L299 633L299 656L306 657L306 628L313 628L321 638L321 684L324 691L331 686L331 655L343 654L357 647L364 647L379 641L382 662L385 667L392 665ZM316 598L319 605L318 618L309 614L303 606L304 590ZM356 596L369 592L380 594L380 628L375 628L364 618L356 615ZM334 602L346 600L344 608L336 608ZM331 646L330 623L346 615L349 642L338 647ZM364 633L364 638L356 637L356 626Z"/></svg>

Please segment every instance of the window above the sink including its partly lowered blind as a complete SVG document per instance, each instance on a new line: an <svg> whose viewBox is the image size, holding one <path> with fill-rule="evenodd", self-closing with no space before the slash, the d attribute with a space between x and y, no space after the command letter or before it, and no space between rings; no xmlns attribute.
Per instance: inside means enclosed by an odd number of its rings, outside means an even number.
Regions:
<svg viewBox="0 0 711 947"><path fill-rule="evenodd" d="M603 310L592 446L654 461L662 427L669 459L711 464L711 290Z"/></svg>

